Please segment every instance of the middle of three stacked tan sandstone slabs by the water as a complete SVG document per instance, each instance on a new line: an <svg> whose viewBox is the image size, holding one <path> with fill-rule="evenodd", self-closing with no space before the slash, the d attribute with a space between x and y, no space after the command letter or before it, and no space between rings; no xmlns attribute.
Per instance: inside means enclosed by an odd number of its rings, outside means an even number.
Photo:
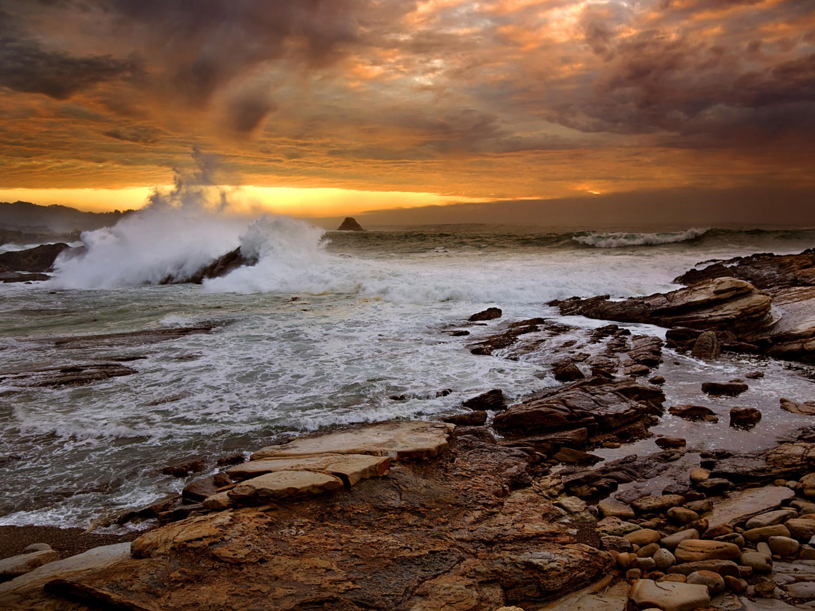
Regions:
<svg viewBox="0 0 815 611"><path fill-rule="evenodd" d="M227 468L232 479L258 477L277 471L324 471L347 481L349 486L368 477L381 477L390 470L390 458L364 454L322 454L301 458L250 460Z"/></svg>

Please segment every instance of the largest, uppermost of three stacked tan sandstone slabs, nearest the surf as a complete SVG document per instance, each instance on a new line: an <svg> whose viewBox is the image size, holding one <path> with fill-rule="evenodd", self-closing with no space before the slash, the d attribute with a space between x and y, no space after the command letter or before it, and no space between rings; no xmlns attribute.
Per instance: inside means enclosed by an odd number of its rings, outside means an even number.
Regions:
<svg viewBox="0 0 815 611"><path fill-rule="evenodd" d="M390 420L321 435L299 437L280 446L267 446L252 460L318 454L368 454L391 459L433 458L447 450L454 424L425 420Z"/></svg>

